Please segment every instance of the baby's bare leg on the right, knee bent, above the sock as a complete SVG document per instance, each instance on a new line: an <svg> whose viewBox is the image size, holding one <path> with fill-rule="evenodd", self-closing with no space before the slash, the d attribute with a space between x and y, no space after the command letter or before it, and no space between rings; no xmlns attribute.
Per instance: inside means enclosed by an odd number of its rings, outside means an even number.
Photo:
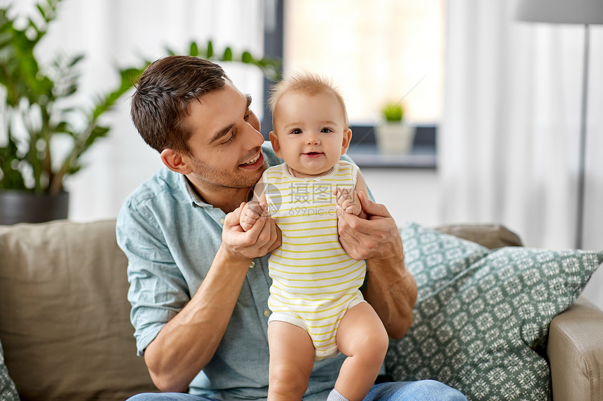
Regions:
<svg viewBox="0 0 603 401"><path fill-rule="evenodd" d="M337 347L348 358L341 365L335 389L350 401L360 401L372 387L383 364L388 336L366 302L346 312L337 329Z"/></svg>

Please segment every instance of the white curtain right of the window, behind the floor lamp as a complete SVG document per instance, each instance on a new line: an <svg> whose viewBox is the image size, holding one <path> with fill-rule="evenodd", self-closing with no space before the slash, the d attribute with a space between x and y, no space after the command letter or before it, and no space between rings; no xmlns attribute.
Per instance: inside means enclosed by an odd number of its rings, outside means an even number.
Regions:
<svg viewBox="0 0 603 401"><path fill-rule="evenodd" d="M516 1L447 1L444 222L498 222L574 247L583 32L514 20ZM603 26L591 27L583 248L603 250ZM586 295L603 307L603 269Z"/></svg>

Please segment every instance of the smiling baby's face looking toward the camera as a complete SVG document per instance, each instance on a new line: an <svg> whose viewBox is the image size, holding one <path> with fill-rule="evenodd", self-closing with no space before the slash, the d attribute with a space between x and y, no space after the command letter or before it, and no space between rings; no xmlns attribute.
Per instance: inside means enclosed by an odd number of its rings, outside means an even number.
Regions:
<svg viewBox="0 0 603 401"><path fill-rule="evenodd" d="M285 93L273 120L272 147L296 177L325 174L348 149L352 133L332 93Z"/></svg>

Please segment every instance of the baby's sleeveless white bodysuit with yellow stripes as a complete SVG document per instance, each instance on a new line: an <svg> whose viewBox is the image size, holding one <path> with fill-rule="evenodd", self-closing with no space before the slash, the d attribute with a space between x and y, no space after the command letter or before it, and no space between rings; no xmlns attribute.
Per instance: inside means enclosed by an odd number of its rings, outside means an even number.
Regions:
<svg viewBox="0 0 603 401"><path fill-rule="evenodd" d="M269 321L306 329L320 360L337 355L337 327L344 313L363 301L359 288L365 261L339 244L334 189L354 189L358 166L339 161L320 177L298 178L284 163L264 172L264 194L283 242L269 259L273 280Z"/></svg>

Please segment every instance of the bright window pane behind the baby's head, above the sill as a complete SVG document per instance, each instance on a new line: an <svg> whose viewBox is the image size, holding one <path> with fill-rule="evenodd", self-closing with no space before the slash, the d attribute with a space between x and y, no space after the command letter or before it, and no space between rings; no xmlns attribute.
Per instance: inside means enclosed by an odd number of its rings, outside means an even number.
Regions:
<svg viewBox="0 0 603 401"><path fill-rule="evenodd" d="M330 76L353 125L374 125L386 101L434 125L443 100L443 0L285 0L284 73Z"/></svg>

